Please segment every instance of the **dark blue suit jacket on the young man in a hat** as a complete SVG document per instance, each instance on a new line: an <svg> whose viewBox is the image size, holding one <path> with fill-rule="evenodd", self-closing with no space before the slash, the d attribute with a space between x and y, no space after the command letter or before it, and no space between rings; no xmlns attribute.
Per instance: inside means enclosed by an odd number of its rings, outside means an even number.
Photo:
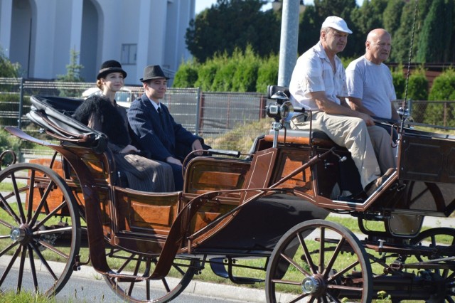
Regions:
<svg viewBox="0 0 455 303"><path fill-rule="evenodd" d="M145 94L132 102L128 121L134 142L139 149L149 151L151 159L164 162L168 156L184 159L191 151L191 144L201 138L176 123L166 105L161 103L160 106L164 125L161 125L158 112Z"/></svg>

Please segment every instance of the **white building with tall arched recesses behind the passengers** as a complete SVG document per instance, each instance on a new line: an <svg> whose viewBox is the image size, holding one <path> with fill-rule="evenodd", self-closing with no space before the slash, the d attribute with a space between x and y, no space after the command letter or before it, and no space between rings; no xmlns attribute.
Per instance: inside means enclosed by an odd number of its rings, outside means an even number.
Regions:
<svg viewBox="0 0 455 303"><path fill-rule="evenodd" d="M28 1L31 7L28 14L33 21L32 37L16 43L31 44L30 63L25 59L28 48L11 49L14 25L21 24L21 20L11 19L14 1ZM175 72L181 60L190 58L185 33L194 17L195 1L1 0L0 45L8 58L11 52L20 52L19 63L23 69L29 66L26 71L29 78L45 79L66 73L70 50L74 48L81 54L85 80L95 82L102 62L120 61L122 44L136 43L136 64L123 67L128 73L126 83L139 84L146 65L159 64ZM20 19L26 14L18 16Z"/></svg>

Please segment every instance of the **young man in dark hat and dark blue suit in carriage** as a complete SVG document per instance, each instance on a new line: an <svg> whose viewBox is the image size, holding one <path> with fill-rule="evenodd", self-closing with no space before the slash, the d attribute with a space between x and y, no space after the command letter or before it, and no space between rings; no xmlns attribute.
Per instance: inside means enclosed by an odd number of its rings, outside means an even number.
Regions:
<svg viewBox="0 0 455 303"><path fill-rule="evenodd" d="M132 102L128 120L140 149L149 151L151 159L172 166L176 190L181 191L182 161L191 151L203 149L203 139L176 123L168 107L160 102L166 93L168 79L159 65L144 68L144 76L140 79L144 95Z"/></svg>

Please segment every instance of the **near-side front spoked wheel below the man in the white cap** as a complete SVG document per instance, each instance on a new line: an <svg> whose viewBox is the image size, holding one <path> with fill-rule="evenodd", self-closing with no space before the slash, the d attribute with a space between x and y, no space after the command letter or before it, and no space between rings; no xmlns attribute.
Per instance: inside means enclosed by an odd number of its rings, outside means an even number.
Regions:
<svg viewBox="0 0 455 303"><path fill-rule="evenodd" d="M360 240L347 228L309 220L284 234L267 266L267 302L371 302L373 275Z"/></svg>

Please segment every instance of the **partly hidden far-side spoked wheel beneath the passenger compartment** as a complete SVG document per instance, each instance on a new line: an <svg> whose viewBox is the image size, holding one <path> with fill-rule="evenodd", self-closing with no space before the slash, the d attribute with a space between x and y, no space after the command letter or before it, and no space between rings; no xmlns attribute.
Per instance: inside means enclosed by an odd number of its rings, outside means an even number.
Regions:
<svg viewBox="0 0 455 303"><path fill-rule="evenodd" d="M107 250L109 267L117 273L149 276L159 257L138 255L119 248ZM167 277L159 280L131 281L105 276L111 289L128 302L169 302L181 294L200 268L198 259L176 257Z"/></svg>

